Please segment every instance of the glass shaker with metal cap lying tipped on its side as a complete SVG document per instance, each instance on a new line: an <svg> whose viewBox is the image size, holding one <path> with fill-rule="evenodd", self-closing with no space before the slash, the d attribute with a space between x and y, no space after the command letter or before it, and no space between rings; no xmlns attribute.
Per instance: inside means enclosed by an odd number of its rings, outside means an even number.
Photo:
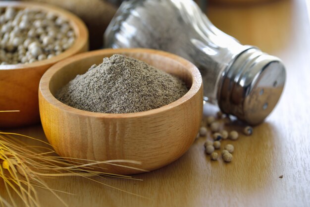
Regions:
<svg viewBox="0 0 310 207"><path fill-rule="evenodd" d="M255 125L277 104L282 61L217 29L193 0L124 1L104 33L106 48L152 48L180 55L200 70L204 99Z"/></svg>

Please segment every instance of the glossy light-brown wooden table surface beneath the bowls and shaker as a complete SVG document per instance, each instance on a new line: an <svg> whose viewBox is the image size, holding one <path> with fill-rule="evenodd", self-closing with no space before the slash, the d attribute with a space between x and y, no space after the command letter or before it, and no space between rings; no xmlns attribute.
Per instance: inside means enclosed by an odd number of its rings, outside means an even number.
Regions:
<svg viewBox="0 0 310 207"><path fill-rule="evenodd" d="M278 0L256 6L209 6L209 19L243 44L279 56L287 67L284 94L253 136L241 135L231 163L210 161L205 138L174 163L133 176L143 179L49 179L70 207L310 206L310 23L305 0ZM213 109L206 106L207 113ZM10 131L44 139L40 125ZM283 175L283 178L279 178ZM61 207L48 191L38 190L43 207ZM3 186L0 193L5 196ZM22 206L20 204L20 206Z"/></svg>

